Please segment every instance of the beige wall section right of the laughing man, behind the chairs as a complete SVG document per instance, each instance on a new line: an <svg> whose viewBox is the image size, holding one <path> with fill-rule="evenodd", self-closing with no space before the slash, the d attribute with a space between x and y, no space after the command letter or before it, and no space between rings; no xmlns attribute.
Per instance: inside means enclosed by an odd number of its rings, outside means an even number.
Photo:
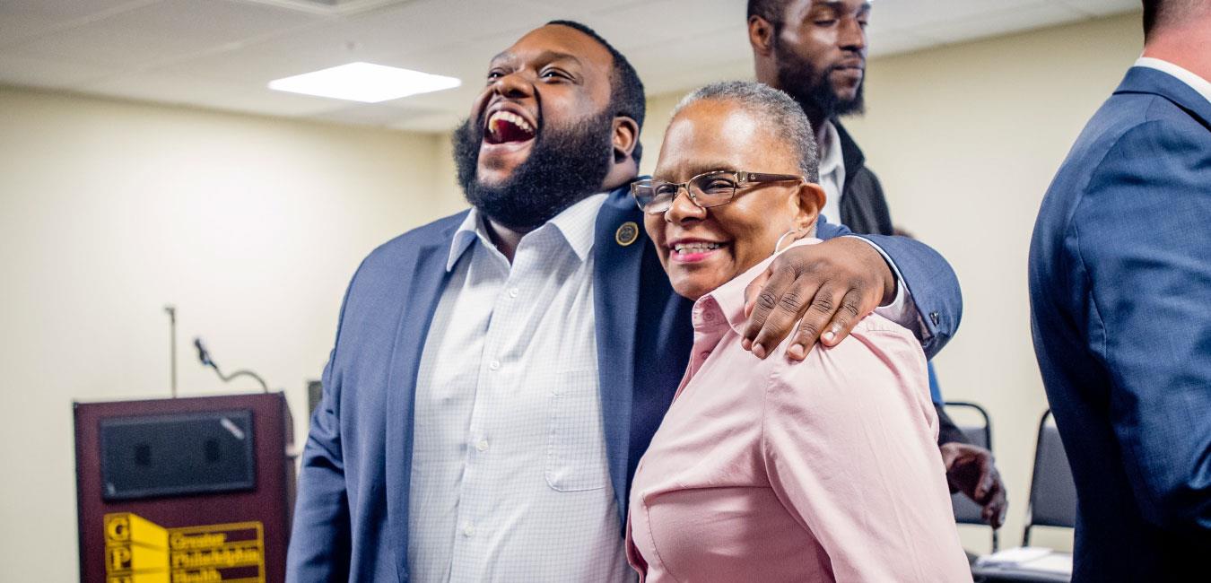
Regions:
<svg viewBox="0 0 1211 583"><path fill-rule="evenodd" d="M959 335L935 364L948 400L985 405L1018 544L1046 398L1031 343L1026 258L1039 202L1085 121L1140 56L1140 16L943 46L871 62L863 118L845 121L895 223L935 246L963 285ZM679 95L649 102L655 165ZM963 528L987 548L987 530ZM1040 531L1041 532L1041 531ZM1071 547L1071 533L1038 543Z"/></svg>

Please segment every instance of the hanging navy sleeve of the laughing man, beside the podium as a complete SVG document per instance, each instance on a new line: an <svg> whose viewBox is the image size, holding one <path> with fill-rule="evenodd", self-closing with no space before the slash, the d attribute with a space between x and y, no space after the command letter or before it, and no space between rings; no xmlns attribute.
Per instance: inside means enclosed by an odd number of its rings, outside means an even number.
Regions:
<svg viewBox="0 0 1211 583"><path fill-rule="evenodd" d="M344 321L351 292L352 284L340 308L340 322ZM337 372L340 328L338 324L337 345L323 368L323 396L311 415L311 428L303 448L294 524L286 555L286 581L291 583L349 578L351 538L340 445L342 378Z"/></svg>

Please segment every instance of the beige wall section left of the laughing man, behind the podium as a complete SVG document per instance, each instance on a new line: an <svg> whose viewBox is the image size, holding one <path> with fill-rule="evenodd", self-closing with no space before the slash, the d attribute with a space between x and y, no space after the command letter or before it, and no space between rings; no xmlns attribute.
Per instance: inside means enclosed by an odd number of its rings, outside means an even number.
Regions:
<svg viewBox="0 0 1211 583"><path fill-rule="evenodd" d="M0 88L0 581L78 577L71 401L286 389L298 444L344 287L461 208L432 136ZM442 194L435 194L442 193Z"/></svg>

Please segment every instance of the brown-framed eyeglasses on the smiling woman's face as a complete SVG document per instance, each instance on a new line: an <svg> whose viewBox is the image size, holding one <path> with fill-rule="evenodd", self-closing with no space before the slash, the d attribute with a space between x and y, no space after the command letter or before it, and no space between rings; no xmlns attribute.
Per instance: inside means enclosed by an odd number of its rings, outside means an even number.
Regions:
<svg viewBox="0 0 1211 583"><path fill-rule="evenodd" d="M689 194L689 201L699 208L710 208L731 202L736 189L762 182L802 181L794 175L765 175L739 170L716 170L698 175L685 182L643 179L631 183L631 196L639 210L648 215L660 215L673 206L681 189Z"/></svg>

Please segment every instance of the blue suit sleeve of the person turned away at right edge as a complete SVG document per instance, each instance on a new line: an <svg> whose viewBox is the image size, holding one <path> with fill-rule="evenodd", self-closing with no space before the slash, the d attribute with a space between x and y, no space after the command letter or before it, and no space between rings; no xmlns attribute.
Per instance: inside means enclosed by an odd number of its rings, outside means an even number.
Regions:
<svg viewBox="0 0 1211 583"><path fill-rule="evenodd" d="M1100 162L1066 245L1147 520L1211 532L1211 135L1154 120Z"/></svg>

